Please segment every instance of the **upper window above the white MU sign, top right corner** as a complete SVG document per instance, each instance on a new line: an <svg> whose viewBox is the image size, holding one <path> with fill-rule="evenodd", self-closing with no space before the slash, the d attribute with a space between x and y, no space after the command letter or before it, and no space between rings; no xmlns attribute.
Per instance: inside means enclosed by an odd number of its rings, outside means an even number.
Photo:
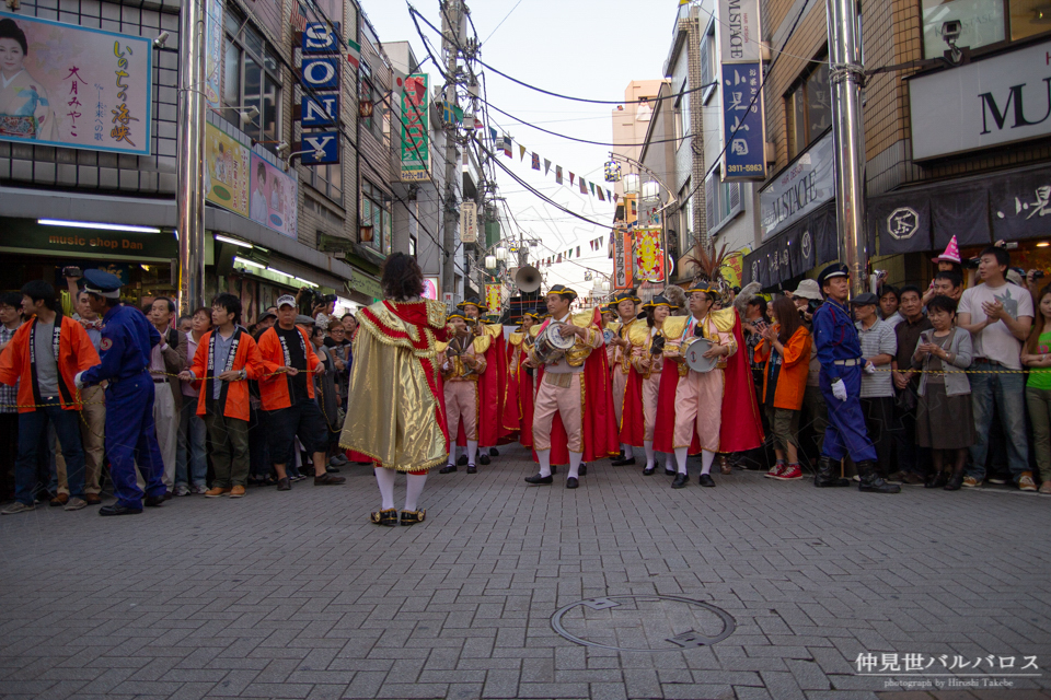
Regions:
<svg viewBox="0 0 1051 700"><path fill-rule="evenodd" d="M923 55L939 58L948 49L942 25L961 24L956 45L980 49L1051 32L1048 0L921 0Z"/></svg>

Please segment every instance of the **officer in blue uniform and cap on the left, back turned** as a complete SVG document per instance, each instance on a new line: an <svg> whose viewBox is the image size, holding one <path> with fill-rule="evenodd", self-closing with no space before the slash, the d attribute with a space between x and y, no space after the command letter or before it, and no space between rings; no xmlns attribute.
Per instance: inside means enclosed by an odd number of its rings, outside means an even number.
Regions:
<svg viewBox="0 0 1051 700"><path fill-rule="evenodd" d="M117 502L104 505L100 515L134 515L142 512L143 493L136 482L138 464L146 481L146 504L164 502L161 481L164 463L153 424L153 378L150 352L161 341L146 316L120 304L120 279L102 270L84 270L88 303L102 323L102 362L77 375L77 387L108 382L106 387L106 454Z"/></svg>

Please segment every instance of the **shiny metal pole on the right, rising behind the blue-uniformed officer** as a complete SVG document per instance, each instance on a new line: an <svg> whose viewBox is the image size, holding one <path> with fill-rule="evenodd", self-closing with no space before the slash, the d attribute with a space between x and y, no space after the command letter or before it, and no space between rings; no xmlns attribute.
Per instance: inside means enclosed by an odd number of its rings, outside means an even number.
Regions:
<svg viewBox="0 0 1051 700"><path fill-rule="evenodd" d="M828 0L832 70L832 143L835 152L835 222L840 260L851 271L851 291L868 283L865 235L865 122L862 117L861 35L854 0Z"/></svg>

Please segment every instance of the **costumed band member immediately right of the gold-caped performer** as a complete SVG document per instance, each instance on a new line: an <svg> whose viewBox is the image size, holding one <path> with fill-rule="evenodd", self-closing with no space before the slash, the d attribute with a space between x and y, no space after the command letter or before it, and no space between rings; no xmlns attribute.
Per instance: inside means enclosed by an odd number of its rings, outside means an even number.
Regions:
<svg viewBox="0 0 1051 700"><path fill-rule="evenodd" d="M485 351L490 346L488 336L474 336L467 328L467 319L462 313L450 314L447 318L452 324L454 337L447 343L438 343L439 368L444 378L446 418L449 425L449 435L460 432L463 423L467 445L464 454L467 457L467 474L477 471L474 464L478 452L478 422L481 420L478 404L478 381L485 374ZM457 445L450 443L449 463L438 470L438 474L450 474L457 470Z"/></svg>

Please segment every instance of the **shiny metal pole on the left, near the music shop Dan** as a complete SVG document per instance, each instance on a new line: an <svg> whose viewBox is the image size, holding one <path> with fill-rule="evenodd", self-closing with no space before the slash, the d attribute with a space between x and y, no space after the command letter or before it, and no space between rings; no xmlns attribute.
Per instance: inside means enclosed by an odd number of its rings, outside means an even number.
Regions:
<svg viewBox="0 0 1051 700"><path fill-rule="evenodd" d="M178 143L175 205L178 231L178 306L205 305L205 13L203 0L182 3L178 19Z"/></svg>

